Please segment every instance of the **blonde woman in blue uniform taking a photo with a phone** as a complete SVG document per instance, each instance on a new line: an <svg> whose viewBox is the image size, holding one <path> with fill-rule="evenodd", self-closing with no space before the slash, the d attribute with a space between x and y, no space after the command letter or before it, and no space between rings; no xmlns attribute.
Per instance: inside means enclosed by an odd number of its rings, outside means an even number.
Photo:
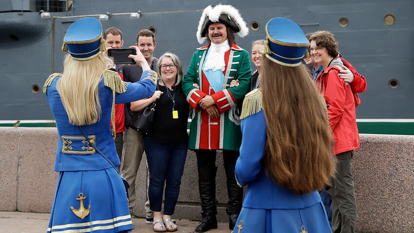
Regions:
<svg viewBox="0 0 414 233"><path fill-rule="evenodd" d="M63 74L51 75L43 87L59 134L55 162L59 178L48 233L124 233L133 229L125 187L113 167L120 161L110 122L114 122L115 103L154 93L156 73L135 48L137 55L130 57L145 72L137 83L123 82L116 72L107 70L113 64L102 53L105 47L97 19L76 20L64 38L62 50L69 55Z"/></svg>

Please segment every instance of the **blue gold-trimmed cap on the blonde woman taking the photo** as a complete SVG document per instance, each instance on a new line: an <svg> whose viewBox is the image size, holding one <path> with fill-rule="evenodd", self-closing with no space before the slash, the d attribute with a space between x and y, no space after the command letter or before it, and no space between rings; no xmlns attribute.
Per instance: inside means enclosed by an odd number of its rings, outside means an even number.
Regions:
<svg viewBox="0 0 414 233"><path fill-rule="evenodd" d="M89 60L106 50L102 25L95 18L76 20L66 32L63 42L62 51L69 51L75 60Z"/></svg>

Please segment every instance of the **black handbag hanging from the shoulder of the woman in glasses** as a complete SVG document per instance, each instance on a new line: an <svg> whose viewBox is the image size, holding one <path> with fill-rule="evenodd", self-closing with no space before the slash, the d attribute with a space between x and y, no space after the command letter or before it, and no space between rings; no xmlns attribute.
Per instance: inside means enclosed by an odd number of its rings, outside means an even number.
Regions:
<svg viewBox="0 0 414 233"><path fill-rule="evenodd" d="M156 90L158 90L158 84ZM157 101L158 99L141 110L141 112L134 113L127 127L141 131L144 134L149 133L151 130L152 121L154 119L155 106L157 105Z"/></svg>

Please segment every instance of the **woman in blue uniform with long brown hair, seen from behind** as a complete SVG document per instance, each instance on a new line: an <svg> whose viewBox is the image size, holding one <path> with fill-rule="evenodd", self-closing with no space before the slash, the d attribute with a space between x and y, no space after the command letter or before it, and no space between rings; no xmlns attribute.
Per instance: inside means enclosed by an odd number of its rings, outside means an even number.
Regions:
<svg viewBox="0 0 414 233"><path fill-rule="evenodd" d="M309 42L292 20L266 25L262 85L245 97L235 174L247 186L233 232L331 232L318 189L334 174L324 101L301 64Z"/></svg>

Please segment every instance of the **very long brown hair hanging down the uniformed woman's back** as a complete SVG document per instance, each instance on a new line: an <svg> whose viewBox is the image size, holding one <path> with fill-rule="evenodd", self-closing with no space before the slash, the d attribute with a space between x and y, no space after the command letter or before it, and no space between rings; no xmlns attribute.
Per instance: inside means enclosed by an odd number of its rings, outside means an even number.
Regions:
<svg viewBox="0 0 414 233"><path fill-rule="evenodd" d="M296 194L321 190L335 172L325 103L302 64L263 56L262 71L266 175Z"/></svg>

